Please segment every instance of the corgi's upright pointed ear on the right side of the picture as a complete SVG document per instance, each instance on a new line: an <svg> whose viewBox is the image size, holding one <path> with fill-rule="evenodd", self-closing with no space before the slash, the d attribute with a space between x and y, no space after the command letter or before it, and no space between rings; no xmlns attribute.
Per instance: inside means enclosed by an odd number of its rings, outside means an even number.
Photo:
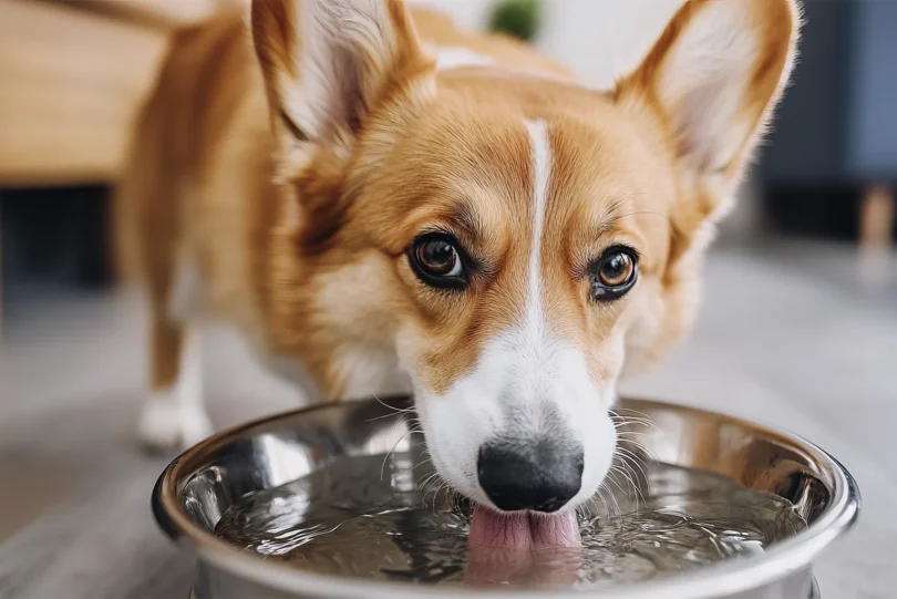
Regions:
<svg viewBox="0 0 897 599"><path fill-rule="evenodd" d="M656 107L698 184L728 188L788 78L798 22L794 0L688 0L618 99Z"/></svg>

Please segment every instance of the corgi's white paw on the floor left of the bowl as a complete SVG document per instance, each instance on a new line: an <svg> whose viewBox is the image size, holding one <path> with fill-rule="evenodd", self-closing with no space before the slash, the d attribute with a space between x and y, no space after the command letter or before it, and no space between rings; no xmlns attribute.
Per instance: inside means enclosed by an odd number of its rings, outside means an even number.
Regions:
<svg viewBox="0 0 897 599"><path fill-rule="evenodd" d="M185 405L186 403L186 405ZM212 435L212 421L196 402L154 393L144 403L137 436L151 450L184 450Z"/></svg>

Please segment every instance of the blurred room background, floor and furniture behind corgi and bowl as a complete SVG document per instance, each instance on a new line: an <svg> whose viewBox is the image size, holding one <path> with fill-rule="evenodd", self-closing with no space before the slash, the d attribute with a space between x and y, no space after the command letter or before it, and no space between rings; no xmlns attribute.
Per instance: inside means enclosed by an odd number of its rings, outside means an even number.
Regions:
<svg viewBox="0 0 897 599"><path fill-rule="evenodd" d="M171 31L236 1L0 0L0 598L188 586L147 507L167 458L132 432L145 331L113 276L111 188ZM496 10L413 3L471 29ZM610 86L680 3L544 0L527 33ZM865 515L824 558L824 596L894 597L897 0L804 7L793 84L711 250L695 330L623 389L784 426L839 457ZM217 426L301 401L227 328L209 323L203 343Z"/></svg>

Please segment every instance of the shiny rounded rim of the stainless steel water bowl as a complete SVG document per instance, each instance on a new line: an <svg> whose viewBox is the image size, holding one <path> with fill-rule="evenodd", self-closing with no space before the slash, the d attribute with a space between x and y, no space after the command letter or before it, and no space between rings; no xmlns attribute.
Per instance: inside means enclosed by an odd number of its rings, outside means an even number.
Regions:
<svg viewBox="0 0 897 599"><path fill-rule="evenodd" d="M261 587L297 596L368 597L371 599L394 599L403 596L458 599L471 597L569 598L574 595L578 597L600 595L605 599L656 599L661 596L664 599L712 599L762 588L791 574L808 570L816 556L856 521L862 503L856 481L835 457L804 437L776 426L688 404L628 396L622 400L627 403L653 406L656 410L688 411L721 419L730 424L754 430L757 434L787 442L788 445L808 454L825 471L821 477L824 478L832 497L812 525L794 537L771 547L763 555L720 561L707 568L682 575L671 575L660 580L648 580L631 586L600 587L594 591L590 591L588 587L513 590L439 587L303 571L278 561L251 557L193 521L177 499L177 487L178 481L186 474L185 471L195 469L194 462L197 456L207 455L216 448L229 444L235 437L246 436L246 433L254 428L262 428L281 420L344 405L344 403L322 403L280 412L226 428L188 448L175 457L156 481L152 495L153 515L166 536L177 545L194 550L202 561ZM833 482L831 486L828 479Z"/></svg>

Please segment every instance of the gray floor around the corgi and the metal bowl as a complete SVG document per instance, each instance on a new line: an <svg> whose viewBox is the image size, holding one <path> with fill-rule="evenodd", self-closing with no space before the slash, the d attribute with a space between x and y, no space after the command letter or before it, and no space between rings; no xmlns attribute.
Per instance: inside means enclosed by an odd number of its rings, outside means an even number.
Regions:
<svg viewBox="0 0 897 599"><path fill-rule="evenodd" d="M819 560L825 599L897 597L897 272L857 283L852 252L773 245L718 250L685 347L636 394L795 431L863 490L860 521ZM135 450L144 380L138 307L122 297L17 306L0 345L0 598L185 598L192 576L155 528L165 458ZM206 331L219 426L291 407L235 335Z"/></svg>

